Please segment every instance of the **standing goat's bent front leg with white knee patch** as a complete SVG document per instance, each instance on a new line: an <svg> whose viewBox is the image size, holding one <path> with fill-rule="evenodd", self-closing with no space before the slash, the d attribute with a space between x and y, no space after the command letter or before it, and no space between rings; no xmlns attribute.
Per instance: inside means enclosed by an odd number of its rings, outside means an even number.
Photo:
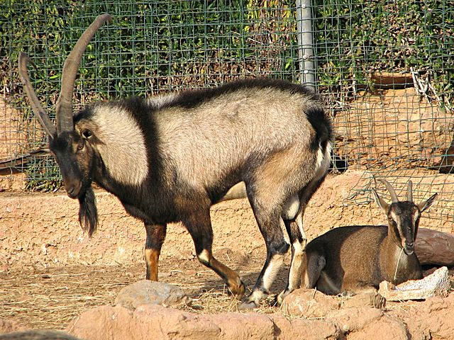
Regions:
<svg viewBox="0 0 454 340"><path fill-rule="evenodd" d="M213 229L211 228L209 208L193 212L182 222L194 240L197 259L208 268L211 268L218 276L221 276L227 284L228 290L235 297L242 297L245 292L245 285L238 274L216 260L211 252Z"/></svg>

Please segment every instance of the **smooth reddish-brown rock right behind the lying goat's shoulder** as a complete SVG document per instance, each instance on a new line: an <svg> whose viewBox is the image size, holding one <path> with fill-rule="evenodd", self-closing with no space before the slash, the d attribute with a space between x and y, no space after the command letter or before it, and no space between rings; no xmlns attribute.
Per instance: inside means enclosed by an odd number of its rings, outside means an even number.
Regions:
<svg viewBox="0 0 454 340"><path fill-rule="evenodd" d="M454 266L454 236L437 230L419 228L415 253L421 264Z"/></svg>

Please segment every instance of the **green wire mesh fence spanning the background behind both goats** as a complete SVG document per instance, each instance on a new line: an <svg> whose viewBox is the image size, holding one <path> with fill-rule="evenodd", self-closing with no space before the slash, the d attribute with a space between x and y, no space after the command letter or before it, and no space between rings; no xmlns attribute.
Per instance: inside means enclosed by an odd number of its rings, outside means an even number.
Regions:
<svg viewBox="0 0 454 340"><path fill-rule="evenodd" d="M18 171L25 172L26 188L60 186L50 157L28 155L45 143L45 135L23 97L18 52L35 63L33 85L51 114L66 55L104 12L114 21L96 33L82 59L74 94L78 107L243 77L296 82L304 79L301 4L2 1L1 185L16 181L10 174ZM370 201L372 175L386 177L398 193L411 178L416 201L441 193L426 215L453 232L453 175L443 172L452 166L445 156L453 138L454 7L448 0L314 0L309 6L316 89L335 122L333 166L365 170L365 181L352 188L345 204Z"/></svg>

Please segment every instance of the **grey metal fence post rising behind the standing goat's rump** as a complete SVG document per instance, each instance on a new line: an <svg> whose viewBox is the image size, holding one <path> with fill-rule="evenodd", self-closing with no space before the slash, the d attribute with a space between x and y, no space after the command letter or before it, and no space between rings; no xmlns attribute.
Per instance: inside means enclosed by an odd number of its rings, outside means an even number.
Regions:
<svg viewBox="0 0 454 340"><path fill-rule="evenodd" d="M299 81L315 90L314 37L311 0L297 1Z"/></svg>

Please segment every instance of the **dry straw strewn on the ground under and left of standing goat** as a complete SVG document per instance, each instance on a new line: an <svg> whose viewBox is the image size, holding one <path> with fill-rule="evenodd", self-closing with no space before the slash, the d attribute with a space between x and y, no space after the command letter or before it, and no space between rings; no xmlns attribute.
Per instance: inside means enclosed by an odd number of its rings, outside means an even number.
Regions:
<svg viewBox="0 0 454 340"><path fill-rule="evenodd" d="M235 267L251 288L262 260L252 259ZM177 269L178 268L178 269ZM245 273L243 269L247 268ZM23 268L0 273L0 318L33 329L65 329L74 317L100 305L114 305L121 288L144 278L144 264L136 266L68 266L47 269ZM276 284L282 289L286 273ZM178 285L192 297L191 306L182 310L196 313L238 311L238 300L231 298L218 276L196 260L162 261L160 280ZM271 297L257 312L275 312Z"/></svg>

